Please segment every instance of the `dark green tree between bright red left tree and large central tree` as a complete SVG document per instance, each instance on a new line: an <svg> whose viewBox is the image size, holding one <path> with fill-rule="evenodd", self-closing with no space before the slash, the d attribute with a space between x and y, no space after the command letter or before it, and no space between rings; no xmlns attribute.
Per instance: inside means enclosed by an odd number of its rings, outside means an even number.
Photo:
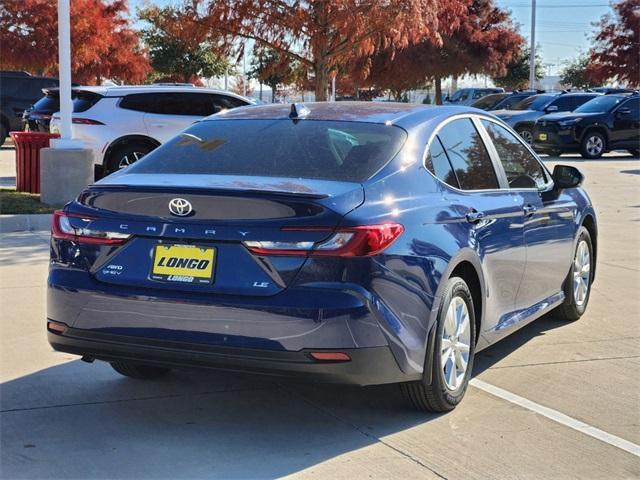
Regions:
<svg viewBox="0 0 640 480"><path fill-rule="evenodd" d="M183 82L229 72L229 62L221 53L221 39L212 38L208 29L197 28L188 18L177 22L182 15L171 6L138 10L140 20L147 23L141 36L156 72Z"/></svg>

